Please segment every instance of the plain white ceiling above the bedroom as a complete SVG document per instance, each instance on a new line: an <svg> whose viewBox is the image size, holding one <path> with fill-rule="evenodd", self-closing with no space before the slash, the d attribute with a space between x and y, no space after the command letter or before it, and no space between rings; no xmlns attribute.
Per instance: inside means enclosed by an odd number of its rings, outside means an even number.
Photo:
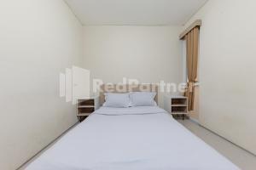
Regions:
<svg viewBox="0 0 256 170"><path fill-rule="evenodd" d="M182 26L207 0L65 0L85 26Z"/></svg>

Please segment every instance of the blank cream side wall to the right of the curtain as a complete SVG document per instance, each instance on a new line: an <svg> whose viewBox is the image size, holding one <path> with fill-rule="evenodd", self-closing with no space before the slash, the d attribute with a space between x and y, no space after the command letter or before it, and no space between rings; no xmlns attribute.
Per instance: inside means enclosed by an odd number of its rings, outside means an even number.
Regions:
<svg viewBox="0 0 256 170"><path fill-rule="evenodd" d="M256 1L210 0L202 20L200 122L256 154ZM186 27L186 26L185 26Z"/></svg>

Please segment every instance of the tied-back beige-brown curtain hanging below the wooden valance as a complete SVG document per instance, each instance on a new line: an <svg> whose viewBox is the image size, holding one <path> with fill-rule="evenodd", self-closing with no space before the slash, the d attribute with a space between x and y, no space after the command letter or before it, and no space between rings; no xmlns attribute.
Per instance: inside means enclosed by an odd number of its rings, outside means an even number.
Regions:
<svg viewBox="0 0 256 170"><path fill-rule="evenodd" d="M197 78L198 47L199 47L199 26L193 28L185 36L187 42L187 74L188 85L185 95L189 99L189 111L194 111L195 82Z"/></svg>

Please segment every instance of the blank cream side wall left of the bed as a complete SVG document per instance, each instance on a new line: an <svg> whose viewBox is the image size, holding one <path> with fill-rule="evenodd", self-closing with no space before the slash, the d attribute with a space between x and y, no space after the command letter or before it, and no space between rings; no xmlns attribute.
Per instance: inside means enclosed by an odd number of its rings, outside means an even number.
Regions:
<svg viewBox="0 0 256 170"><path fill-rule="evenodd" d="M0 169L12 170L77 122L59 73L82 59L82 26L62 0L0 3Z"/></svg>

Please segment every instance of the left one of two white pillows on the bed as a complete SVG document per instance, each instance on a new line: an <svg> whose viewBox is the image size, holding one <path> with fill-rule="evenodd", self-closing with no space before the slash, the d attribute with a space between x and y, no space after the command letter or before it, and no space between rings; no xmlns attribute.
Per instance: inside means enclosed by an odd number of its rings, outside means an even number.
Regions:
<svg viewBox="0 0 256 170"><path fill-rule="evenodd" d="M130 97L129 94L105 94L106 102L103 104L105 107L129 107Z"/></svg>

